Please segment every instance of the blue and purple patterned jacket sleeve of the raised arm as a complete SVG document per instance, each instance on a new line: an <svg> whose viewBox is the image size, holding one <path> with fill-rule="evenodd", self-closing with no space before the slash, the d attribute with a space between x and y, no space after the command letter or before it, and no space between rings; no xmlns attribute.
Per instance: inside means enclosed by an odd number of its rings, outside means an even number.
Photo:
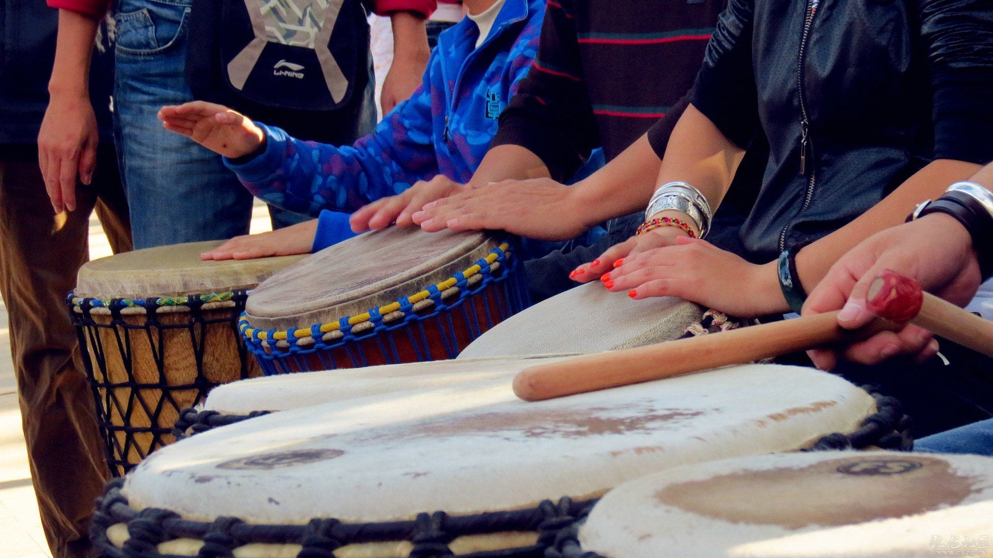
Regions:
<svg viewBox="0 0 993 558"><path fill-rule="evenodd" d="M351 212L403 192L438 174L430 86L437 63L431 60L413 95L354 145L302 141L256 122L265 134L265 150L247 162L225 158L224 164L256 198L311 216L322 209Z"/></svg>

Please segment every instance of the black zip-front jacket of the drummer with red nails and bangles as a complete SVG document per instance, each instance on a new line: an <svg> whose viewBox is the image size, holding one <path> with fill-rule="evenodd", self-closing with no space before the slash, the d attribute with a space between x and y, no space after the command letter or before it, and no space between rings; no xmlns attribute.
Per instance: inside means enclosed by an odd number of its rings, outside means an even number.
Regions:
<svg viewBox="0 0 993 558"><path fill-rule="evenodd" d="M690 100L742 147L769 138L741 240L771 261L931 159L993 160L993 0L731 0Z"/></svg>

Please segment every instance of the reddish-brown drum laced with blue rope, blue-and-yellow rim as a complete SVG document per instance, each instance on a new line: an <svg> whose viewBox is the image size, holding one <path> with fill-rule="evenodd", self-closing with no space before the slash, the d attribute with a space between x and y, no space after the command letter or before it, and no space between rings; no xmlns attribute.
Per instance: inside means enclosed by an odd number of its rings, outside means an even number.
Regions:
<svg viewBox="0 0 993 558"><path fill-rule="evenodd" d="M527 306L508 240L390 227L277 273L240 329L268 374L455 358Z"/></svg>

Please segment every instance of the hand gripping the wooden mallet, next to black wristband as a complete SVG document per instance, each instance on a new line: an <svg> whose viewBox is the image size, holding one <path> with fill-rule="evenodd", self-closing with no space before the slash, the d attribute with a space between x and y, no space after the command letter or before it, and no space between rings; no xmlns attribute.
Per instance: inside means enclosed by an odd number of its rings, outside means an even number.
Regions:
<svg viewBox="0 0 993 558"><path fill-rule="evenodd" d="M869 323L866 295L884 270L917 280L922 289L959 306L968 304L979 288L979 264L969 233L953 217L941 213L877 232L841 257L810 292L803 315L841 310L838 323L857 329ZM818 368L829 370L839 356L875 364L897 354L933 356L937 341L930 333L908 325L899 333L884 332L853 344L841 354L830 349L808 351Z"/></svg>

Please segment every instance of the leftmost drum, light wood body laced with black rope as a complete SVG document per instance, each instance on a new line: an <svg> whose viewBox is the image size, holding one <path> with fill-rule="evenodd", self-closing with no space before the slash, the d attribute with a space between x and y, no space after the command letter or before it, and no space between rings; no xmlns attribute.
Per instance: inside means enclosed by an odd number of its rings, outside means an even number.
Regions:
<svg viewBox="0 0 993 558"><path fill-rule="evenodd" d="M219 241L90 261L69 297L111 472L173 441L181 409L261 375L237 332L247 289L301 256L201 261Z"/></svg>

